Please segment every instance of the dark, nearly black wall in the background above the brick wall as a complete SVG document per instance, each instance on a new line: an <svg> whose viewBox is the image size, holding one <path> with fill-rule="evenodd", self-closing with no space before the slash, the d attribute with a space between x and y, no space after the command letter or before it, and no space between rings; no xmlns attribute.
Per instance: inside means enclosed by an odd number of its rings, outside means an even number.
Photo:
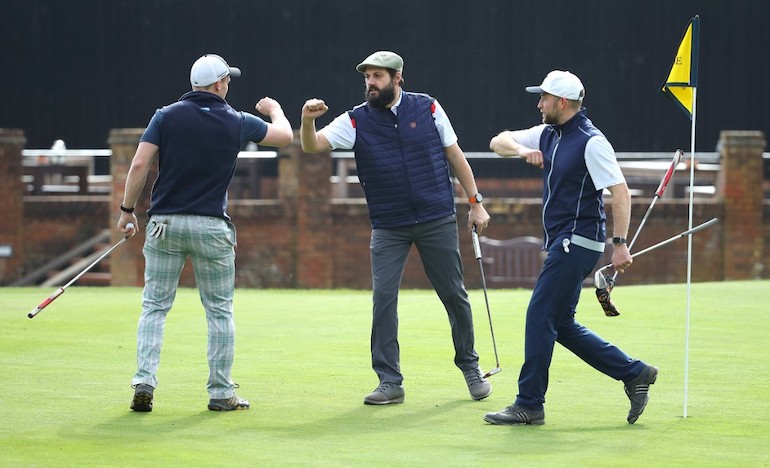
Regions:
<svg viewBox="0 0 770 468"><path fill-rule="evenodd" d="M689 149L689 121L658 90L694 14L696 149L770 122L766 0L0 0L0 11L0 127L23 129L29 148L58 138L102 148L111 128L144 127L189 89L206 52L243 70L234 107L269 95L298 127L304 101L319 97L323 125L362 100L355 65L390 49L405 59L406 89L441 101L466 151L538 123L523 88L554 68L582 78L616 150Z"/></svg>

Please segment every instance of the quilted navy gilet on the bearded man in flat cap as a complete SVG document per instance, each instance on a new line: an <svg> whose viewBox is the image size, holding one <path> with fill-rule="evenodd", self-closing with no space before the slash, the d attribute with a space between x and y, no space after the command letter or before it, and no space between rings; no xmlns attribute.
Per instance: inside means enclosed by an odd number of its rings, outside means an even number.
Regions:
<svg viewBox="0 0 770 468"><path fill-rule="evenodd" d="M403 92L398 115L361 104L348 112L353 151L372 228L396 228L455 213L454 190L434 99Z"/></svg>

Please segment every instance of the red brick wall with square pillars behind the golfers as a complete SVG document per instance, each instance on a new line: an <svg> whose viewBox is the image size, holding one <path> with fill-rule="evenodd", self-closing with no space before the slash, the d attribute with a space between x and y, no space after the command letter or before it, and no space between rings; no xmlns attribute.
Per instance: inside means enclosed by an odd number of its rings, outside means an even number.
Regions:
<svg viewBox="0 0 770 468"><path fill-rule="evenodd" d="M20 230L25 239L19 271L29 271L52 255L61 253L104 228L114 229L118 205L122 199L125 173L138 144L141 130L121 129L110 135L113 149L113 194L105 197L69 197L35 201L25 199L23 215L13 226L0 230L0 242L10 229ZM7 148L7 146L6 146ZM723 195L717 199L697 199L693 224L713 217L722 222L693 236L693 281L768 278L770 271L770 202L762 200L761 183L757 190L735 188L752 181L754 165L764 148L761 133L735 135L725 133L720 143L726 167L719 184ZM20 149L18 149L20 152ZM277 199L231 200L228 213L238 230L236 284L238 287L266 288L354 288L371 287L369 265L369 214L360 199L331 199L328 155L302 153L298 145L279 155ZM150 180L154 179L151 175ZM761 182L761 181L760 181ZM530 196L537 184L521 180L512 183ZM494 185L503 190L499 179L479 181L480 190ZM145 187L137 207L140 225L149 201ZM511 189L512 193L521 193ZM468 205L464 194L458 197L458 227L465 264L466 284L480 286L478 264L473 256L470 234L466 229ZM635 198L632 207L632 232L638 226L650 199ZM485 201L492 216L484 232L492 238L542 236L539 198L488 197ZM744 207L745 209L741 209ZM17 208L18 210L18 208ZM611 208L608 209L611 217ZM681 233L688 227L688 200L662 198L647 220L637 240L639 249ZM120 235L115 232L113 240ZM111 256L114 285L141 285L144 262L141 237L131 239ZM637 249L634 249L637 250ZM622 277L623 284L682 283L687 273L687 239L680 239L650 254L639 257ZM6 276L8 280L8 276ZM7 281L6 281L7 282ZM180 283L195 284L192 269L185 268ZM409 257L403 287L429 288L419 256Z"/></svg>

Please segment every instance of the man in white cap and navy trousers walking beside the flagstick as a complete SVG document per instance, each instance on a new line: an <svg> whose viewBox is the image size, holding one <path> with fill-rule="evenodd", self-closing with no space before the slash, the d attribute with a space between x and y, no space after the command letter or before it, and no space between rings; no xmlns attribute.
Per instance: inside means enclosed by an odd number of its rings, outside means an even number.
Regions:
<svg viewBox="0 0 770 468"><path fill-rule="evenodd" d="M504 131L490 148L503 157L517 156L543 169L543 249L548 255L527 308L524 364L516 401L497 413L492 424L543 424L548 369L554 344L575 353L591 367L624 382L631 401L627 421L642 414L658 369L633 359L575 321L583 280L599 260L606 242L604 201L612 194L612 264L619 272L632 262L626 246L631 196L615 151L593 126L582 107L585 88L567 71L554 70L540 86L537 108L543 123Z"/></svg>

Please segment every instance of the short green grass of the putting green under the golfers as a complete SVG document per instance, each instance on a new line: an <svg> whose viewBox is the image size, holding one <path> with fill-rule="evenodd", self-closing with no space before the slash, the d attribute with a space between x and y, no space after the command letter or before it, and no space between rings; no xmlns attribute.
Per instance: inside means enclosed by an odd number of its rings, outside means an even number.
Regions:
<svg viewBox="0 0 770 468"><path fill-rule="evenodd" d="M238 290L234 378L249 411L206 409L206 322L182 289L166 327L152 413L128 409L138 288L0 289L2 466L617 466L770 464L770 282L694 284L684 413L686 286L622 286L607 318L586 289L578 319L660 367L634 425L618 383L557 345L544 426L500 427L513 401L529 292L491 290L503 372L472 401L432 291L400 298L406 402L369 407L368 291ZM480 290L477 350L494 355Z"/></svg>

